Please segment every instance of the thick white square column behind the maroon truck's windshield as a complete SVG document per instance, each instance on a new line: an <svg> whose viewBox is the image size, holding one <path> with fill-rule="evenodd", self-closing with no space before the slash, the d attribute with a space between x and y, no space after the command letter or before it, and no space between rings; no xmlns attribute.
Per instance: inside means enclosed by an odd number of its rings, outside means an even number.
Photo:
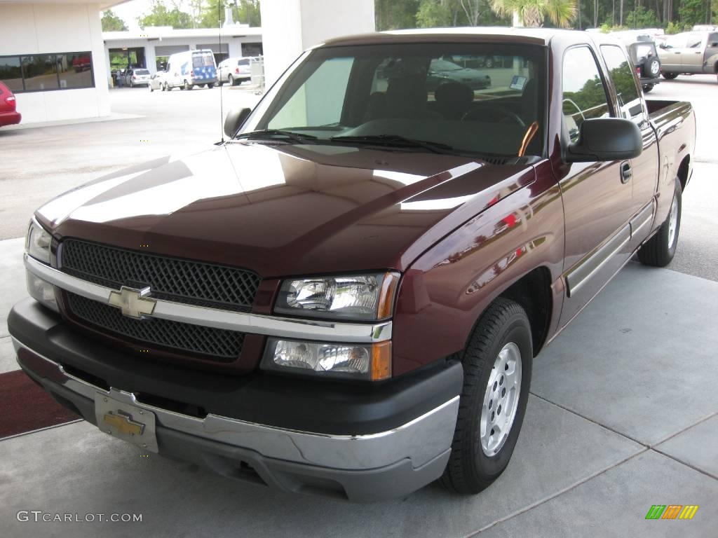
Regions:
<svg viewBox="0 0 718 538"><path fill-rule="evenodd" d="M305 49L332 37L374 32L374 0L262 0L266 87Z"/></svg>

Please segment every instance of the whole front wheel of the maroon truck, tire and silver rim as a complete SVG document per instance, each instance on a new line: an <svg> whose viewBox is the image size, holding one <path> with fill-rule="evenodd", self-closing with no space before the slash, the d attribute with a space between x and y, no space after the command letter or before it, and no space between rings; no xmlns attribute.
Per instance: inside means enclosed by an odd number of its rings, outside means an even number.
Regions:
<svg viewBox="0 0 718 538"><path fill-rule="evenodd" d="M508 466L526 412L532 359L526 312L498 298L482 314L462 357L464 387L441 478L448 489L477 494Z"/></svg>

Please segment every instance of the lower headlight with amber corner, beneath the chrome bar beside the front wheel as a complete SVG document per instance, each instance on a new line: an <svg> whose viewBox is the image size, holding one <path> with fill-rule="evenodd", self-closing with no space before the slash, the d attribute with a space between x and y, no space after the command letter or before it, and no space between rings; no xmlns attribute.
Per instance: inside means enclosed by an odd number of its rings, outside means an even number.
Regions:
<svg viewBox="0 0 718 538"><path fill-rule="evenodd" d="M261 367L276 372L380 381L391 377L391 342L365 345L270 338Z"/></svg>

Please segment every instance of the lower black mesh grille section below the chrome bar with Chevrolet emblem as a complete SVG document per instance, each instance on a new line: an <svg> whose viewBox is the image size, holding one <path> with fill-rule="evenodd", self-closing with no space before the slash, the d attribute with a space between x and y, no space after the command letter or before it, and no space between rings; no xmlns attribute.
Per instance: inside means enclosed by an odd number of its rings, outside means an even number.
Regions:
<svg viewBox="0 0 718 538"><path fill-rule="evenodd" d="M233 362L239 357L244 333L160 318L133 319L123 316L118 308L99 301L66 293L67 308L83 324L104 333L123 336L139 344L168 347L192 354L210 355L220 362Z"/></svg>

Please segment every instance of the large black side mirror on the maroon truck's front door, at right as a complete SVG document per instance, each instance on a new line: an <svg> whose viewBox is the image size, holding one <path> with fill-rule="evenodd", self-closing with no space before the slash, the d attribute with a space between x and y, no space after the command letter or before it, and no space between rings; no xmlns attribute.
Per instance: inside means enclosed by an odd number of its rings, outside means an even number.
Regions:
<svg viewBox="0 0 718 538"><path fill-rule="evenodd" d="M579 139L569 145L566 161L623 161L638 157L642 151L643 137L633 121L595 118L581 123Z"/></svg>

